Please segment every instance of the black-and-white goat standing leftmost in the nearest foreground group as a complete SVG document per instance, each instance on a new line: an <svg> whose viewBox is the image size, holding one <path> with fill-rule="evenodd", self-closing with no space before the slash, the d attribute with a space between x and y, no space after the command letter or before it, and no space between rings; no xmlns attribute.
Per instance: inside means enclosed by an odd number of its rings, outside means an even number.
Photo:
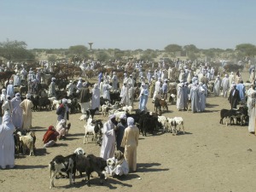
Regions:
<svg viewBox="0 0 256 192"><path fill-rule="evenodd" d="M66 157L57 155L49 162L49 189L55 187L54 178L59 172L66 172L69 177L69 184L74 183L76 172L76 156L77 154L70 154Z"/></svg>

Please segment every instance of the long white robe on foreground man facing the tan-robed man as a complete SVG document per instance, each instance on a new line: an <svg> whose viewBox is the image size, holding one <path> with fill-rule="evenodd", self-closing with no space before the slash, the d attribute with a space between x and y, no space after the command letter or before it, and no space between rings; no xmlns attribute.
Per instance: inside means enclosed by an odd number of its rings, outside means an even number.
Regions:
<svg viewBox="0 0 256 192"><path fill-rule="evenodd" d="M113 157L114 148L115 148L115 132L113 130L113 123L111 120L108 120L103 125L103 139L102 139L102 148L100 156L104 160Z"/></svg>

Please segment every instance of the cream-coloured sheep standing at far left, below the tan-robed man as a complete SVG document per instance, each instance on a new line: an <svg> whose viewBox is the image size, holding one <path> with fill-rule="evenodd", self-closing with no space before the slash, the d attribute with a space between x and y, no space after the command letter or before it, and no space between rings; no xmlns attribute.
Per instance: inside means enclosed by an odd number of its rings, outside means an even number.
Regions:
<svg viewBox="0 0 256 192"><path fill-rule="evenodd" d="M23 149L23 154L26 154L26 148L29 148L29 156L34 155L34 147L35 147L35 132L30 131L26 136L22 136L20 132L20 143Z"/></svg>

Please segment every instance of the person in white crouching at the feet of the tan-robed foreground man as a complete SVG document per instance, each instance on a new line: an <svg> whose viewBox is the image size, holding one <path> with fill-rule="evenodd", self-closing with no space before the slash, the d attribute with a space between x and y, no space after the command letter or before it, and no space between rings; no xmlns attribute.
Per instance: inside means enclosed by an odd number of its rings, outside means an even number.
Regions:
<svg viewBox="0 0 256 192"><path fill-rule="evenodd" d="M124 154L121 151L115 151L113 158L107 160L107 173L114 175L127 175L129 173L129 166L125 160Z"/></svg>

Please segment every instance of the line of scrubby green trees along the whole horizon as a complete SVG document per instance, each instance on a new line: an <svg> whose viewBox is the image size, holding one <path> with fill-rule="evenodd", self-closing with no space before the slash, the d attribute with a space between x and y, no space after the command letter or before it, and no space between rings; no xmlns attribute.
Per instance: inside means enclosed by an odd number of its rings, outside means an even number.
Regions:
<svg viewBox="0 0 256 192"><path fill-rule="evenodd" d="M3 56L9 61L35 61L38 53L44 53L48 56L49 61L56 61L57 56L63 58L72 58L77 56L80 58L97 59L98 61L109 60L124 60L138 58L143 61L154 61L155 58L162 55L165 58L177 57L177 52L180 55L186 56L189 60L198 60L203 56L209 58L223 58L226 60L237 59L244 57L253 58L256 55L256 46L253 44L237 44L235 49L199 49L194 44L181 46L178 44L168 44L163 50L159 49L88 49L84 45L70 46L68 49L27 49L27 44L24 41L9 40L0 42L0 56Z"/></svg>

